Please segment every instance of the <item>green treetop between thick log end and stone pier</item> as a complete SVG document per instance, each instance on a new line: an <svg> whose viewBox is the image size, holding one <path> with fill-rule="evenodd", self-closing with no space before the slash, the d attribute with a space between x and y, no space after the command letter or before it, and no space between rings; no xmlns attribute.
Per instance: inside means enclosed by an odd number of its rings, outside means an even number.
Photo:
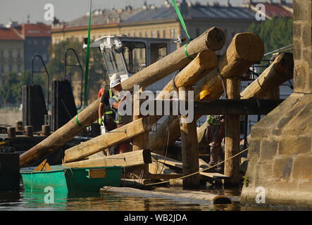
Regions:
<svg viewBox="0 0 312 225"><path fill-rule="evenodd" d="M292 18L272 18L252 23L249 32L258 34L264 43L266 53L292 44Z"/></svg>

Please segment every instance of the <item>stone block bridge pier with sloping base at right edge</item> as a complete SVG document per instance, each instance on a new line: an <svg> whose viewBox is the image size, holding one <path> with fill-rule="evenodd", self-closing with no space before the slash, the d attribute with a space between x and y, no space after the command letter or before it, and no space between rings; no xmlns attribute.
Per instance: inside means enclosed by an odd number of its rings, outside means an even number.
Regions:
<svg viewBox="0 0 312 225"><path fill-rule="evenodd" d="M293 4L294 93L251 129L241 202L312 210L312 0Z"/></svg>

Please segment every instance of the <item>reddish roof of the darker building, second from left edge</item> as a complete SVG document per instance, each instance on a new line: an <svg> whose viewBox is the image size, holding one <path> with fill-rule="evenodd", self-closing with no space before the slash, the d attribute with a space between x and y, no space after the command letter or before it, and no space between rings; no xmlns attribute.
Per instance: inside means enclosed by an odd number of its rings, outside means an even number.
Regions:
<svg viewBox="0 0 312 225"><path fill-rule="evenodd" d="M43 23L25 23L20 32L24 37L51 37L50 30L51 26Z"/></svg>

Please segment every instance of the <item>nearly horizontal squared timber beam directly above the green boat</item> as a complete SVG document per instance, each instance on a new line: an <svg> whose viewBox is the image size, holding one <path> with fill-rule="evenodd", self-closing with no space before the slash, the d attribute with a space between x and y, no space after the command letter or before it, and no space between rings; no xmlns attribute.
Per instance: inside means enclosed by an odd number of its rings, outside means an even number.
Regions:
<svg viewBox="0 0 312 225"><path fill-rule="evenodd" d="M82 160L63 164L64 167L133 167L151 163L151 151L148 149L136 150L134 152L109 155L92 160Z"/></svg>

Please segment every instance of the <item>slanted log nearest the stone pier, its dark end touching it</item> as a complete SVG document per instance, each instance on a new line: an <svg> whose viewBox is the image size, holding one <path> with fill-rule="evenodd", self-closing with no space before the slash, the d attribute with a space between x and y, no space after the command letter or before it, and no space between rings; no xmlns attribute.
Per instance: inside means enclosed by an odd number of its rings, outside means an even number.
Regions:
<svg viewBox="0 0 312 225"><path fill-rule="evenodd" d="M294 58L292 53L281 53L273 63L254 80L240 96L242 99L266 98L268 91L276 89L294 77Z"/></svg>

